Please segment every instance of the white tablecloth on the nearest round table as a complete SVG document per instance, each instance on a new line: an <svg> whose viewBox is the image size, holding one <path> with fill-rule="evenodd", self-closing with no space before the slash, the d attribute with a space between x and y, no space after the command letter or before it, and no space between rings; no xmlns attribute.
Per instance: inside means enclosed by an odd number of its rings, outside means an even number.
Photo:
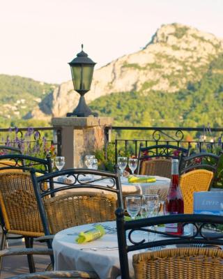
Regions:
<svg viewBox="0 0 223 279"><path fill-rule="evenodd" d="M115 222L106 222L106 224L116 227ZM89 243L77 244L75 239L77 235L68 235L74 232L84 232L91 229L93 226L82 225L64 229L56 234L53 241L54 270L72 270L79 271L95 271L101 279L115 279L120 275L120 264L118 250L80 250L81 248L94 247L118 247L116 233L105 234L101 239L96 239ZM141 239L140 234L135 236ZM143 236L145 237L145 235ZM146 236L147 237L147 236ZM141 250L141 252L143 252ZM129 252L130 275L133 278L132 255L137 251Z"/></svg>

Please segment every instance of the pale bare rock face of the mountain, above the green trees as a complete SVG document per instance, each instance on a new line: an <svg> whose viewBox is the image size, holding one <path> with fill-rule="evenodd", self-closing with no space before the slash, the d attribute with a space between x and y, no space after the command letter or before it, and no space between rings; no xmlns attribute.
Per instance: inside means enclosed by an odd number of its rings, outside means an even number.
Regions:
<svg viewBox="0 0 223 279"><path fill-rule="evenodd" d="M223 40L182 24L163 25L143 50L122 56L95 70L86 103L110 93L127 91L162 91L174 93L196 82L206 72L210 61L223 52ZM32 117L65 116L79 100L72 81L54 90L52 99L43 100ZM47 114L40 110L52 104ZM47 106L49 107L49 105Z"/></svg>

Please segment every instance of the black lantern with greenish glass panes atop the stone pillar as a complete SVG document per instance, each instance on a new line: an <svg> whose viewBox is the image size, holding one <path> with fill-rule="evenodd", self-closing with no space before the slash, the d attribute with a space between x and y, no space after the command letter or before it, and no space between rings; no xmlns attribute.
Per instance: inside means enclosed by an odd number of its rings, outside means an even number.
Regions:
<svg viewBox="0 0 223 279"><path fill-rule="evenodd" d="M72 74L72 82L74 89L80 94L79 103L73 112L68 112L67 116L88 117L90 115L98 116L98 113L91 112L91 109L86 105L84 94L91 89L91 82L93 77L93 62L83 51L77 54L77 57L70 63L70 70Z"/></svg>

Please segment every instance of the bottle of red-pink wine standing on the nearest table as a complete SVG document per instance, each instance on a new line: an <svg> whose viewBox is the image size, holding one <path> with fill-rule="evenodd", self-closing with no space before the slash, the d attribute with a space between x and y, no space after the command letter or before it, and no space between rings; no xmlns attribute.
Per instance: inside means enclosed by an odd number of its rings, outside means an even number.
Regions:
<svg viewBox="0 0 223 279"><path fill-rule="evenodd" d="M167 214L183 213L183 196L179 185L178 159L171 161L171 184L167 195L166 211ZM165 225L166 232L171 234L183 234L183 225L181 223L171 223Z"/></svg>

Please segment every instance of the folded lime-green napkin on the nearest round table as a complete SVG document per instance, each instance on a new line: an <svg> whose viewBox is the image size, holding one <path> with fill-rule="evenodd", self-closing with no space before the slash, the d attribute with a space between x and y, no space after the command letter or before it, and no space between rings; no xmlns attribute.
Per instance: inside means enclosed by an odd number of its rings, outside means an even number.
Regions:
<svg viewBox="0 0 223 279"><path fill-rule="evenodd" d="M95 239L99 239L105 234L105 229L101 225L95 225L93 229L89 229L86 232L80 232L79 236L77 236L77 243L85 243L89 241L93 241Z"/></svg>

